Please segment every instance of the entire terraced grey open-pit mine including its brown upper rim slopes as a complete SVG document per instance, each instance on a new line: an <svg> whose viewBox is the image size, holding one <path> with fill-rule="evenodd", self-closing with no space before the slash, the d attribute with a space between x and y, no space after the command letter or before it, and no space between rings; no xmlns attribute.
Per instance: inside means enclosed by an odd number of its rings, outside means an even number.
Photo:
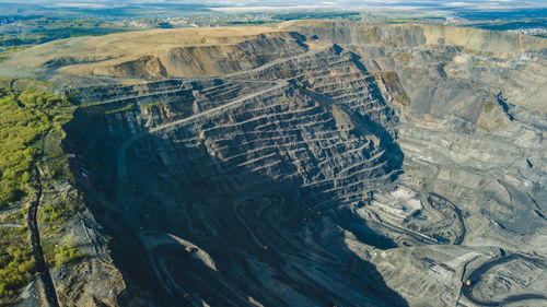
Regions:
<svg viewBox="0 0 547 307"><path fill-rule="evenodd" d="M130 305L544 304L546 40L277 31L79 67L199 76L81 88L66 127Z"/></svg>

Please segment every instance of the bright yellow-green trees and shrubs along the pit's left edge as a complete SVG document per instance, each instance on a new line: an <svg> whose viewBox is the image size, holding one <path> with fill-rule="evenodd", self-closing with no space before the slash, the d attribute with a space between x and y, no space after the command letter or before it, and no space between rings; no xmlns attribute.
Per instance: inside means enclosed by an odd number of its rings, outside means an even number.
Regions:
<svg viewBox="0 0 547 307"><path fill-rule="evenodd" d="M54 95L48 83L0 79L0 209L35 191L35 177L42 176L35 166L48 177L42 180L46 185L55 176L69 175L60 140L65 135L61 126L71 119L73 108L67 96ZM60 224L72 214L74 200L56 197L61 201L51 202L44 211L47 225ZM23 205L1 217L25 225L26 214ZM75 248L65 246L57 253L59 263L81 257ZM13 303L14 294L35 276L35 270L28 228L0 227L0 305Z"/></svg>

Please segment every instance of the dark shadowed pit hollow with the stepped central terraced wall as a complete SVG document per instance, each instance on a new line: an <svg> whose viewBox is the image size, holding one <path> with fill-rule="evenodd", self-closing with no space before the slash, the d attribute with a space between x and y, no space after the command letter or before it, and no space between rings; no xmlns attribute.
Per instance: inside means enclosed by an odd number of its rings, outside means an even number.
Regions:
<svg viewBox="0 0 547 307"><path fill-rule="evenodd" d="M321 57L333 62L342 58L333 48ZM280 69L268 71L289 73ZM317 66L317 70L325 68ZM151 265L151 276L155 272L175 279L177 286L164 288L171 299L190 291L213 305L249 305L248 296L271 306L403 304L370 263L331 238L338 223L353 224L346 221L351 215L333 209L361 200L371 189L391 186L401 155L384 128L393 119L374 78L350 58L338 69L330 66L330 72L335 78L317 79L314 87L299 85L309 81L306 76L292 82L241 82L243 86L259 83L263 88L226 99L218 95L233 84L206 87L195 97L184 96L196 87L186 90L194 84L183 83L181 96L171 105L191 106L209 95L217 106L193 115L154 106L106 118L102 107L94 107L93 128L70 138L75 152L85 152L79 154L82 163L94 164L89 168L95 189L90 194L104 193L112 203L107 210L119 210L113 219L142 228L138 234L146 238L142 253L150 259L133 265ZM363 98L351 102L333 92L340 76L352 79L348 86ZM85 120L81 117L90 118L92 113L77 113L74 123L81 126ZM92 134L101 135L97 140L103 145L85 141ZM103 224L115 227L117 223ZM366 227L351 227L371 245L396 246L387 237L368 236ZM190 241L214 265L187 259L184 245L175 245L173 238ZM124 246L133 250L135 244L125 240ZM223 257L226 250L229 256ZM176 257L179 253L182 258ZM193 269L175 273L170 268ZM351 268L361 273L353 275ZM217 270L226 271L222 283L211 275ZM313 272L317 281L301 280L302 272ZM333 278L338 283L335 288L328 282ZM362 295L366 288L379 296Z"/></svg>

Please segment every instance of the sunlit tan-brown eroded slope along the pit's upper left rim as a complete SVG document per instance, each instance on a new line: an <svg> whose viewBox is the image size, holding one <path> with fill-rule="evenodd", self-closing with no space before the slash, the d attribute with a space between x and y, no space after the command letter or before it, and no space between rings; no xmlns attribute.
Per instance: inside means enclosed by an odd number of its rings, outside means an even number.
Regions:
<svg viewBox="0 0 547 307"><path fill-rule="evenodd" d="M107 76L199 76L242 71L266 62L306 51L290 33L258 35L248 40L225 45L173 47L153 50L137 59L109 60L97 66L80 64L68 73Z"/></svg>

